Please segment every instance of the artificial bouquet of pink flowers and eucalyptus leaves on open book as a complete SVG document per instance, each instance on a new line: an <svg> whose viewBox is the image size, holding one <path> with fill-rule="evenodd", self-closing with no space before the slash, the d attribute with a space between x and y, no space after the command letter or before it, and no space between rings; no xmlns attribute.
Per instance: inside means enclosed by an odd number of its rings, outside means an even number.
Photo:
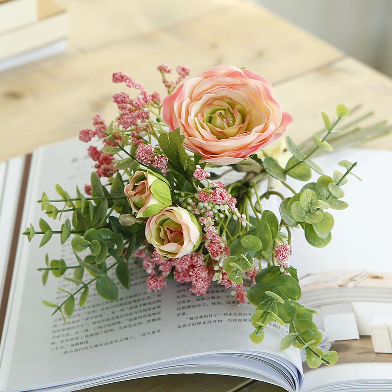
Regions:
<svg viewBox="0 0 392 392"><path fill-rule="evenodd" d="M322 113L324 132L315 134L311 147L299 148L289 137L271 145L293 119L266 78L221 66L182 83L187 68L177 67L173 82L167 66L158 70L168 91L162 101L125 73L113 74L114 83L138 95L116 94L118 117L106 124L96 116L93 129L80 131L82 142L98 138L87 149L95 162L91 184L84 192L76 187L75 197L57 185L60 199L43 193L39 200L48 218L61 220L61 229L41 219L39 231L32 224L26 229L28 240L40 234L44 246L53 234L61 244L72 237L74 252L74 260L47 254L40 269L44 285L50 272L75 290L60 304L44 304L65 321L75 300L86 303L93 284L114 301L116 280L132 290L128 263L136 262L146 271L146 291L164 290L168 279L188 284L196 295L222 285L239 303L255 306L252 342L263 341L268 324L288 324L281 349L304 349L311 368L333 365L338 354L318 348L315 312L297 302L301 289L289 259L293 228L303 230L310 245L326 246L334 226L330 211L348 205L342 186L355 176L356 163L340 161L341 170L325 175L311 160L320 149L333 150L327 139L340 132L348 109L338 105L332 123ZM319 175L315 182L309 182L312 172ZM303 187L294 190L289 177ZM270 197L279 200L279 213L265 208Z"/></svg>

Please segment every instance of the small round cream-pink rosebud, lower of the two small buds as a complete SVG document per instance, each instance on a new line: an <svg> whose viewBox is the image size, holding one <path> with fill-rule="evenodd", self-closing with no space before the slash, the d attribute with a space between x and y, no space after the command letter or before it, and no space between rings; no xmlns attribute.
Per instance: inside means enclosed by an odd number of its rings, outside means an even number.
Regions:
<svg viewBox="0 0 392 392"><path fill-rule="evenodd" d="M173 259L191 253L201 241L201 227L194 215L173 206L148 219L146 239L162 256Z"/></svg>

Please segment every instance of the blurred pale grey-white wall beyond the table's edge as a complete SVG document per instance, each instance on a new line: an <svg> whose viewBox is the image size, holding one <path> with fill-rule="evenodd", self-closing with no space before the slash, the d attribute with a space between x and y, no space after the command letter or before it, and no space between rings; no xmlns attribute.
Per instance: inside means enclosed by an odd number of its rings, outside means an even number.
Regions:
<svg viewBox="0 0 392 392"><path fill-rule="evenodd" d="M392 0L250 0L392 76Z"/></svg>

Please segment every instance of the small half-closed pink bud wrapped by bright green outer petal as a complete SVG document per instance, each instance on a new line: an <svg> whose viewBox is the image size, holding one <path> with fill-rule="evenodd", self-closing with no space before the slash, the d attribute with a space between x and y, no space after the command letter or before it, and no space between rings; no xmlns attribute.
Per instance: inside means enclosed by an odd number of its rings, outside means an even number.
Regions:
<svg viewBox="0 0 392 392"><path fill-rule="evenodd" d="M172 204L167 179L148 169L135 172L124 192L137 218L152 217Z"/></svg>

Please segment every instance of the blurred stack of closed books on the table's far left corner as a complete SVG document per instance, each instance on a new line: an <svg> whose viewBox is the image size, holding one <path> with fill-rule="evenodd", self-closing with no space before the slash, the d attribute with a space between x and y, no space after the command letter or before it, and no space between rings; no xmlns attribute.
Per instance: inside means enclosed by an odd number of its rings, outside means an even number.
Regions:
<svg viewBox="0 0 392 392"><path fill-rule="evenodd" d="M0 71L67 47L68 14L53 0L0 0Z"/></svg>

